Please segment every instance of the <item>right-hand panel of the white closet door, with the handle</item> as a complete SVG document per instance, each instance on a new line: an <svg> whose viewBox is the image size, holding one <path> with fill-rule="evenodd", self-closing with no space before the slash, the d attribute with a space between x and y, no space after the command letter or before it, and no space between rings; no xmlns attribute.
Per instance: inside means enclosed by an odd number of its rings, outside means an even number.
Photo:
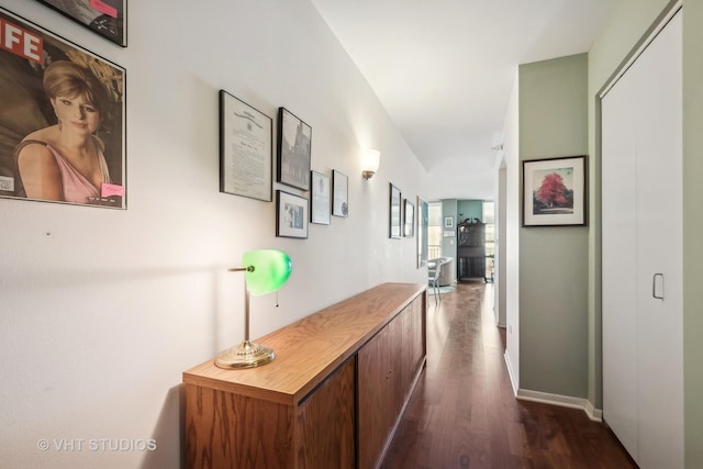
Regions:
<svg viewBox="0 0 703 469"><path fill-rule="evenodd" d="M643 468L683 467L681 31L679 13L632 70L640 86L637 373Z"/></svg>

